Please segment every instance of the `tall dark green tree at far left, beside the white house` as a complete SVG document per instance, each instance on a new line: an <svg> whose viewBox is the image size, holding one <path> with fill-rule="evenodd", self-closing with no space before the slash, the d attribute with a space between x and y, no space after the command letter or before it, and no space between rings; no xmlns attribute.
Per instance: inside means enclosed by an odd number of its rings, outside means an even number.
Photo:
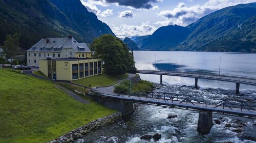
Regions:
<svg viewBox="0 0 256 143"><path fill-rule="evenodd" d="M14 35L6 35L6 40L4 42L3 46L3 54L5 58L11 59L11 65L12 60L15 58L15 55L19 52L19 37L20 34L15 33Z"/></svg>

